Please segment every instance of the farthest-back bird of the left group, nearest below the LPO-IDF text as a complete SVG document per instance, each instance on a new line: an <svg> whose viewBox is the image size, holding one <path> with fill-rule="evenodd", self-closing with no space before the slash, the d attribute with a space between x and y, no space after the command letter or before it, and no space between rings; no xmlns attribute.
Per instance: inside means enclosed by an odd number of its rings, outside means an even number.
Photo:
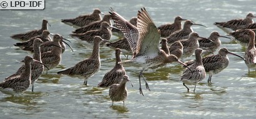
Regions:
<svg viewBox="0 0 256 119"><path fill-rule="evenodd" d="M19 34L11 35L11 38L16 39L16 40L26 41L32 37L36 37L37 35L42 35L42 31L48 30L47 23L48 23L47 20L42 20L42 28L41 29L31 30L26 33L19 33Z"/></svg>

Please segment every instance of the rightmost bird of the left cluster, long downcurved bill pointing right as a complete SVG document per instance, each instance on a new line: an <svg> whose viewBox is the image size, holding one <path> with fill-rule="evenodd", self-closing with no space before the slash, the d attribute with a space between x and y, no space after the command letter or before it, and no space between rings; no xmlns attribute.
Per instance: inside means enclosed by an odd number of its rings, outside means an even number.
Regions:
<svg viewBox="0 0 256 119"><path fill-rule="evenodd" d="M62 39L64 38L61 35L55 34L53 36L53 42L50 43L54 45L52 50L41 54L42 63L46 64L49 69L56 68L61 63L62 48L59 42ZM44 68L44 71L47 73L49 69Z"/></svg>

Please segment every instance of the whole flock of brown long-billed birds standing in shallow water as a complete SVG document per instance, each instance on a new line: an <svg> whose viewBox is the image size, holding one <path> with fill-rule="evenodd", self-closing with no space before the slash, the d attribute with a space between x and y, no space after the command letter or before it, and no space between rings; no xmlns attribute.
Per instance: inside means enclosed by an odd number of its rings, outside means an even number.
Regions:
<svg viewBox="0 0 256 119"><path fill-rule="evenodd" d="M77 28L70 34L70 37L76 38L81 43L93 46L92 55L86 60L80 61L71 68L57 72L71 77L84 79L84 85L87 85L87 79L93 76L101 68L99 48L109 46L116 50L116 65L108 71L98 84L99 87L109 87L109 96L114 102L126 100L128 92L126 82L130 82L129 76L123 65L137 66L142 68L139 73L139 92L142 92L140 79L145 81L145 87L149 85L143 71L145 69L156 69L165 66L167 63L180 63L185 70L180 76L180 80L189 92L186 85L194 85L202 81L209 73L209 85L212 75L220 73L229 65L227 54L240 57L250 69L256 68L256 48L255 48L255 29L256 25L252 20L255 16L249 13L245 19L234 19L228 22L215 22L214 24L222 29L232 29L229 35L238 42L247 45L244 58L231 53L227 48L220 48L219 37L230 38L220 35L218 32L212 32L209 38L200 37L197 32L192 30L195 24L192 20L175 17L173 24L164 24L156 27L149 13L142 8L138 11L137 17L132 17L129 21L124 19L112 8L109 14L101 18L102 12L94 9L89 15L79 15L74 19L62 19L64 24L72 25ZM112 25L111 20L114 20ZM182 27L182 21L185 20ZM41 74L50 69L56 68L61 63L61 55L68 45L62 35L52 34L47 29L47 20L42 20L40 30L31 30L26 33L12 35L11 38L21 40L14 46L19 46L22 50L31 51L33 56L25 56L24 64L16 73L6 77L0 83L0 90L5 94L22 94L32 85L34 91L34 82ZM111 36L117 35L120 40L109 42ZM51 39L50 35L53 35ZM231 39L231 38L230 38ZM67 40L69 41L69 40ZM159 48L159 42L161 48ZM69 46L69 45L68 45ZM71 46L69 46L71 48ZM219 49L217 55L214 51ZM72 48L71 48L72 50ZM121 60L121 50L128 55L132 55L130 60ZM185 58L195 54L195 60L183 63ZM204 58L202 57L204 56ZM180 61L181 60L181 61ZM132 84L132 82L130 82Z"/></svg>

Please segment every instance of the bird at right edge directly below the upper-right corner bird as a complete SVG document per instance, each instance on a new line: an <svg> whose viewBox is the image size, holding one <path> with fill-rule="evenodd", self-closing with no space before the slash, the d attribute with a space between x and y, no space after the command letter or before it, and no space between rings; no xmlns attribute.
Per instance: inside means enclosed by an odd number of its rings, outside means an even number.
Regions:
<svg viewBox="0 0 256 119"><path fill-rule="evenodd" d="M248 45L250 42L250 37L248 35L248 29L239 29L235 30L234 32L230 32L229 36L232 36L235 38L237 42L239 42L242 45ZM254 33L256 32L256 29L252 29Z"/></svg>

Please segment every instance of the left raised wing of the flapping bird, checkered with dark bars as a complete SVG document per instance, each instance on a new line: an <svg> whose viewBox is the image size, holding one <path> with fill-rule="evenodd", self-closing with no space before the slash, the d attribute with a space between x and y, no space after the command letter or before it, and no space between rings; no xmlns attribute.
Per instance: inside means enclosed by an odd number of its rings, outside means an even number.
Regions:
<svg viewBox="0 0 256 119"><path fill-rule="evenodd" d="M124 33L124 37L126 37L130 48L134 53L136 51L137 40L139 39L138 29L134 25L130 24L130 22L124 19L117 12L115 12L113 9L111 9L111 12L109 12L109 14L111 14L111 17L114 20L117 28L121 30L122 33Z"/></svg>

